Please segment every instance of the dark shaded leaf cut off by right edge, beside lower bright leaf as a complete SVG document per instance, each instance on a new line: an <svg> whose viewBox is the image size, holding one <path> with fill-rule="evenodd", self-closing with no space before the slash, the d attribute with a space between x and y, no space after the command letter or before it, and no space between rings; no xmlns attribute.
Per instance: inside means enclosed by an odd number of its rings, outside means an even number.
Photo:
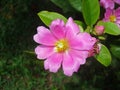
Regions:
<svg viewBox="0 0 120 90"><path fill-rule="evenodd" d="M111 45L110 51L112 52L112 54L116 58L120 59L120 46L118 46L118 45Z"/></svg>

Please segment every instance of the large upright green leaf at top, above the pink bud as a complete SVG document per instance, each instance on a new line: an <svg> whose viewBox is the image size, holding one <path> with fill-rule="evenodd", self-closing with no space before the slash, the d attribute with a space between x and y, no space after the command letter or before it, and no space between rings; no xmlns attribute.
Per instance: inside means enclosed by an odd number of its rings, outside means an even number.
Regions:
<svg viewBox="0 0 120 90"><path fill-rule="evenodd" d="M82 0L82 13L87 25L96 23L100 15L100 5L98 0Z"/></svg>

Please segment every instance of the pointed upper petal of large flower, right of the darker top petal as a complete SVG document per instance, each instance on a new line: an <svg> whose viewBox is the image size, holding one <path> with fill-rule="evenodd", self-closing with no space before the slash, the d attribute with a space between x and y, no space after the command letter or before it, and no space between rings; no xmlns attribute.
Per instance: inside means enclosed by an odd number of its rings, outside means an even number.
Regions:
<svg viewBox="0 0 120 90"><path fill-rule="evenodd" d="M66 28L70 28L69 30L72 30L75 34L80 32L79 26L74 23L73 19L70 17L66 23Z"/></svg>

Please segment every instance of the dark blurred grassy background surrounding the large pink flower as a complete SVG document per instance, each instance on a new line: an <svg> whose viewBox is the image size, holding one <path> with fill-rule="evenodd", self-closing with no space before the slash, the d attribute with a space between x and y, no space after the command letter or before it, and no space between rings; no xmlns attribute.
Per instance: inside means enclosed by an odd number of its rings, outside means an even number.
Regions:
<svg viewBox="0 0 120 90"><path fill-rule="evenodd" d="M75 19L83 18L77 10L75 13L72 9L65 12L50 0L1 0L0 90L119 90L120 36L108 36L108 42L105 42L109 48L111 42L114 45L111 48L111 66L103 67L90 58L72 77L64 76L62 70L55 74L45 71L43 61L25 52L34 51L36 46L32 37L36 27L43 25L37 16L41 10L61 12Z"/></svg>

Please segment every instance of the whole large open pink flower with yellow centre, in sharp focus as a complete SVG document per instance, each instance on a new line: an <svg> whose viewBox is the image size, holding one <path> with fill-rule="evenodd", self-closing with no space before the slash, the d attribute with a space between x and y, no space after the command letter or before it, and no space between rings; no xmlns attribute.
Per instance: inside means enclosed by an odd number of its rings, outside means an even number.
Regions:
<svg viewBox="0 0 120 90"><path fill-rule="evenodd" d="M71 76L85 64L96 39L88 33L80 33L72 18L66 24L60 19L54 20L49 28L39 26L34 35L34 40L40 44L35 48L37 58L45 60L46 70L57 72L62 66L64 74Z"/></svg>

